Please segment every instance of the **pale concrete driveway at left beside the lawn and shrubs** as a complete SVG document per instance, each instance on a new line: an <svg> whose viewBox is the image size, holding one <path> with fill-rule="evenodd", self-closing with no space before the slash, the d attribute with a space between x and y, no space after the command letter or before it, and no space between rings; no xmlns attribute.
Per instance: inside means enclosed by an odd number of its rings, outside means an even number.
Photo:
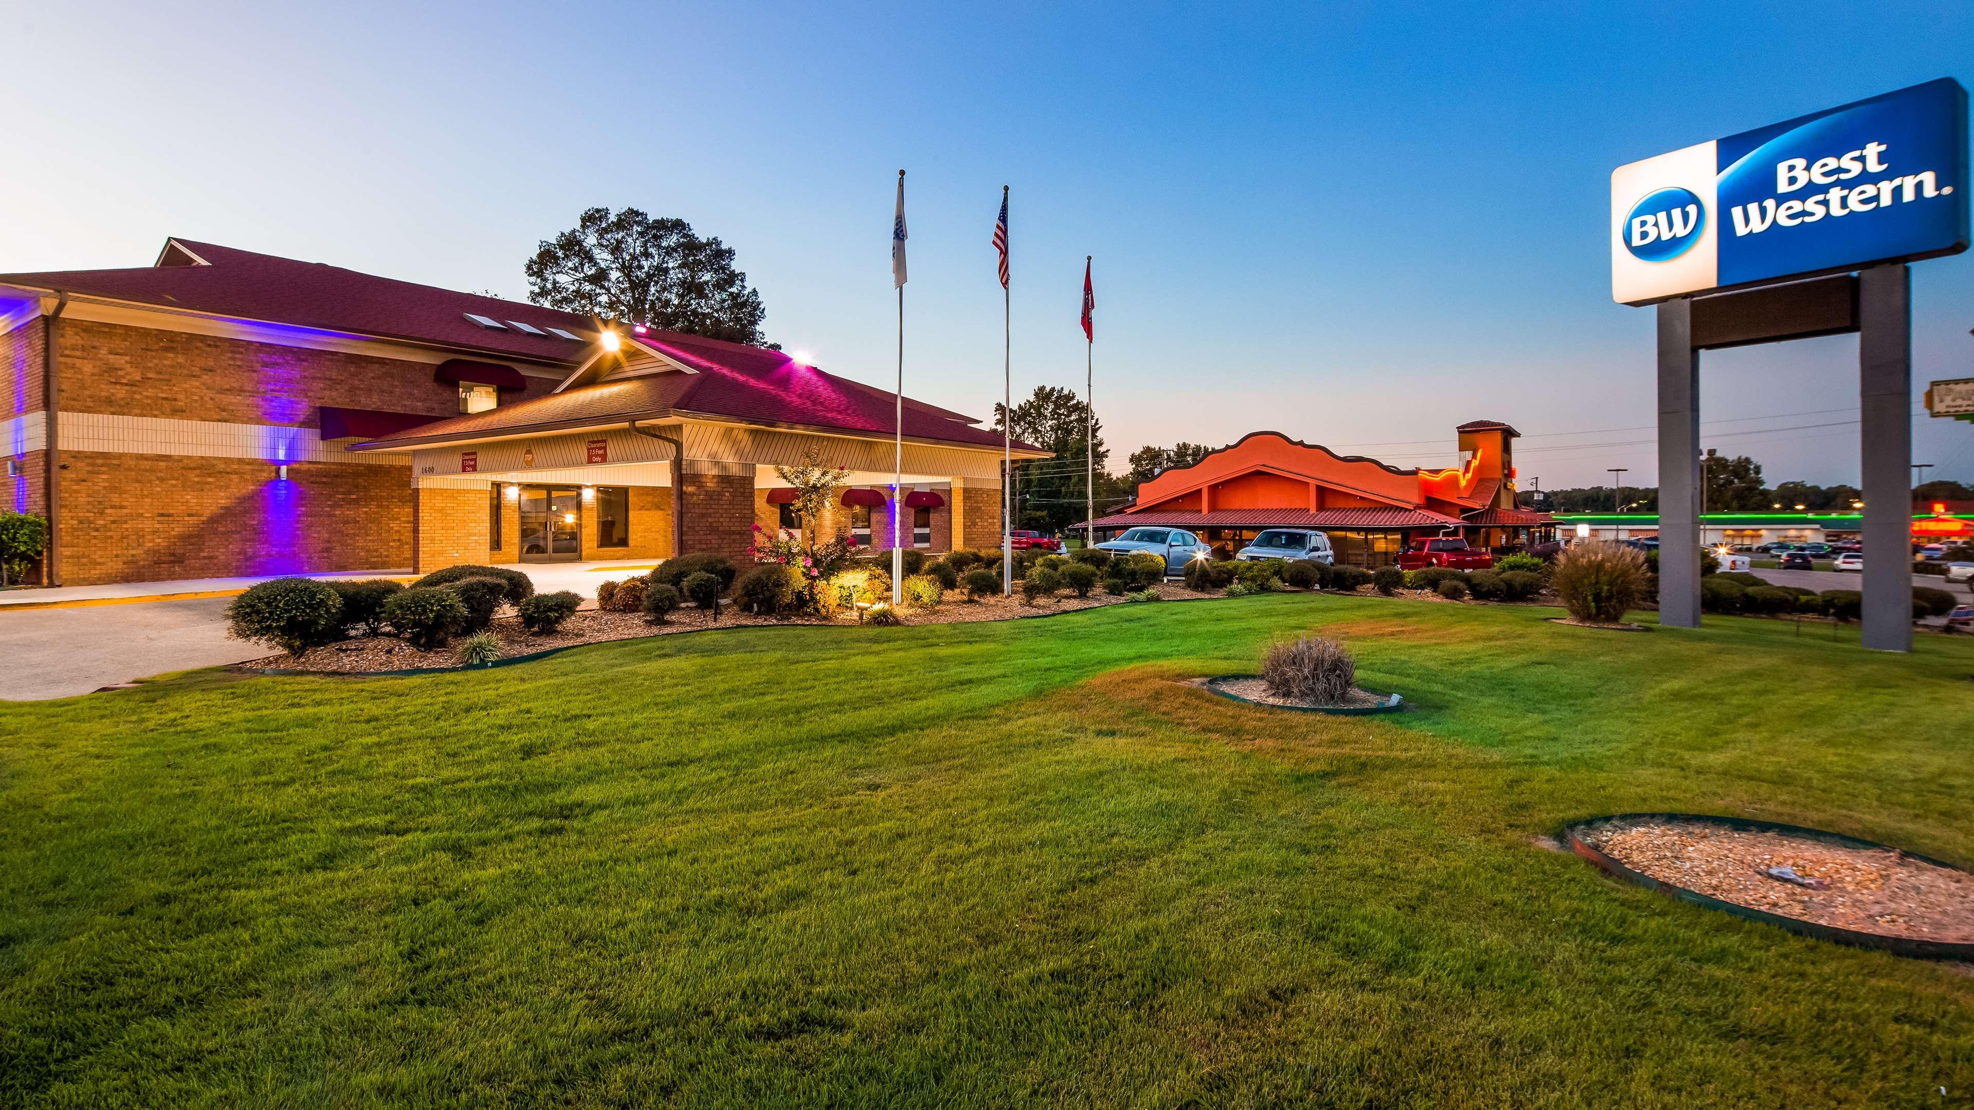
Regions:
<svg viewBox="0 0 1974 1110"><path fill-rule="evenodd" d="M229 596L0 610L0 699L73 697L164 672L270 654L227 638Z"/></svg>

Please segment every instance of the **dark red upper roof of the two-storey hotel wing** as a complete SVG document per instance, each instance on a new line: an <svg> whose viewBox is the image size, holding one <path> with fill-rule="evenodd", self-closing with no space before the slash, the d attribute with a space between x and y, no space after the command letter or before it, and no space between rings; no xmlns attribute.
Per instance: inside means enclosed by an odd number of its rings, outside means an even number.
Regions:
<svg viewBox="0 0 1974 1110"><path fill-rule="evenodd" d="M190 257L168 245L156 267L0 275L0 284L81 292L138 304L191 308L239 320L413 340L553 363L582 361L596 336L596 322L578 312L452 292L450 288L383 278L322 263L237 251L217 243L193 243L191 239L172 239L172 243L207 265L178 265ZM499 320L503 328L482 328L466 318L468 312ZM549 334L529 336L513 328L511 322L529 324L543 332L565 328L582 336L584 342L576 344Z"/></svg>

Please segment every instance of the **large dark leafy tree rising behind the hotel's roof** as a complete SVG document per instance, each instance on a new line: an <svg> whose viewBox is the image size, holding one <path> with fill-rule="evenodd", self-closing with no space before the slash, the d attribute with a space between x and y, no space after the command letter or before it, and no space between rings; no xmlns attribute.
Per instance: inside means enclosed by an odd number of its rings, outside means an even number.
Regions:
<svg viewBox="0 0 1974 1110"><path fill-rule="evenodd" d="M732 247L683 219L592 207L527 261L535 304L734 344L762 344L768 314Z"/></svg>

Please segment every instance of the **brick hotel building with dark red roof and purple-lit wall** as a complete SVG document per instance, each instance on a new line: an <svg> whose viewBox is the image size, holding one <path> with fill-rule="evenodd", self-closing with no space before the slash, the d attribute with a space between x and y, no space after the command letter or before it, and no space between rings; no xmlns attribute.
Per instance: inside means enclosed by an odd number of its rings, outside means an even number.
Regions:
<svg viewBox="0 0 1974 1110"><path fill-rule="evenodd" d="M803 523L774 466L809 452L851 472L813 523L1001 533L1001 438L973 417L906 397L894 496L888 391L213 243L0 275L0 508L49 517L49 585L740 555Z"/></svg>

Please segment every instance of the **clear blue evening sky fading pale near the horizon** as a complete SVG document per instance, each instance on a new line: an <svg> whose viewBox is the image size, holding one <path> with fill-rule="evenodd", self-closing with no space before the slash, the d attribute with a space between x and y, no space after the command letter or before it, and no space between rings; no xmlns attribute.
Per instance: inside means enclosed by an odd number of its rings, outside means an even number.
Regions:
<svg viewBox="0 0 1974 1110"><path fill-rule="evenodd" d="M1017 395L1082 387L1096 255L1113 448L1277 429L1439 464L1488 417L1546 488L1656 480L1611 168L1974 81L1974 8L1936 0L272 8L0 4L0 271L146 265L186 235L523 298L539 239L636 205L732 245L770 338L886 385L904 168L912 395L1001 395L1007 184ZM1917 387L1974 375L1974 253L1913 284ZM1711 446L1856 482L1856 340L1702 377ZM1974 482L1974 425L1915 429L1931 476Z"/></svg>

